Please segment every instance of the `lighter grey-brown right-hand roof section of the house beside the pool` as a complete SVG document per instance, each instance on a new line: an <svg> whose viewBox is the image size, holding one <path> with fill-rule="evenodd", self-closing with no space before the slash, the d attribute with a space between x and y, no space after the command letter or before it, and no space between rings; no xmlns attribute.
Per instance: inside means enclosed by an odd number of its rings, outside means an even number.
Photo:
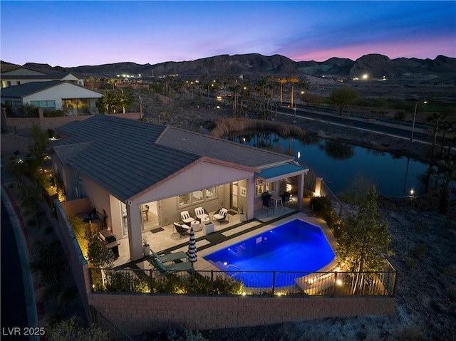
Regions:
<svg viewBox="0 0 456 341"><path fill-rule="evenodd" d="M271 164L293 161L293 157L283 154L239 145L236 142L174 127L168 127L157 140L157 143L225 162L242 164L247 167L263 168Z"/></svg>

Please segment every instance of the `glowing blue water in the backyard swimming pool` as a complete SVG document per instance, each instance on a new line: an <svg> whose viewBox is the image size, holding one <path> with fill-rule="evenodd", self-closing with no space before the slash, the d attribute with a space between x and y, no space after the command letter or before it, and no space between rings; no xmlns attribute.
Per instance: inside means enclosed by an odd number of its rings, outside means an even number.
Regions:
<svg viewBox="0 0 456 341"><path fill-rule="evenodd" d="M323 231L318 226L295 219L228 248L204 256L222 271L251 288L272 286L272 274L243 271L299 272L276 273L275 286L293 285L294 278L319 271L336 257ZM228 265L229 266L227 268ZM236 268L235 268L236 267ZM239 269L239 273L236 273ZM236 277L235 277L236 276ZM293 282L293 283L291 283Z"/></svg>

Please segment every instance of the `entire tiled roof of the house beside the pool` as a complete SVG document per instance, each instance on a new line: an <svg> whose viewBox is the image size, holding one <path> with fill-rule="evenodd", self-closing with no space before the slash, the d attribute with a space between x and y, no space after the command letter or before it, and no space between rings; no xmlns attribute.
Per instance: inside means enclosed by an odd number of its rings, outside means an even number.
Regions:
<svg viewBox="0 0 456 341"><path fill-rule="evenodd" d="M292 157L208 135L95 115L57 128L68 136L54 152L122 201L197 162L202 157L262 168Z"/></svg>

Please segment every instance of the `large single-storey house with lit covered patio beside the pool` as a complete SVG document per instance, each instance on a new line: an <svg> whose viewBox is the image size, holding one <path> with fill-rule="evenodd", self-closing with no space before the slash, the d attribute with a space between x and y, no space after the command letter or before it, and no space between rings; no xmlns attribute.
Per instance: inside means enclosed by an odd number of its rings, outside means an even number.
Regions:
<svg viewBox="0 0 456 341"><path fill-rule="evenodd" d="M309 169L293 157L110 115L57 131L61 141L53 147L53 173L63 181L66 199L88 197L104 211L113 233L128 238L133 260L142 258L142 231L180 221L180 211L198 206L236 211L242 205L253 219L261 194L278 194L281 181L294 186L302 206Z"/></svg>

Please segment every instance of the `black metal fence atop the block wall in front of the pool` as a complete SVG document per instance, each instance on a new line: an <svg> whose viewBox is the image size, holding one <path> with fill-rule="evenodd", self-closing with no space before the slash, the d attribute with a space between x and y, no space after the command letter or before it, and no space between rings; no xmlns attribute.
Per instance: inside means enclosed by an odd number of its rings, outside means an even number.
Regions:
<svg viewBox="0 0 456 341"><path fill-rule="evenodd" d="M393 296L397 273L386 261L382 271L361 273L90 268L90 278L94 293Z"/></svg>

